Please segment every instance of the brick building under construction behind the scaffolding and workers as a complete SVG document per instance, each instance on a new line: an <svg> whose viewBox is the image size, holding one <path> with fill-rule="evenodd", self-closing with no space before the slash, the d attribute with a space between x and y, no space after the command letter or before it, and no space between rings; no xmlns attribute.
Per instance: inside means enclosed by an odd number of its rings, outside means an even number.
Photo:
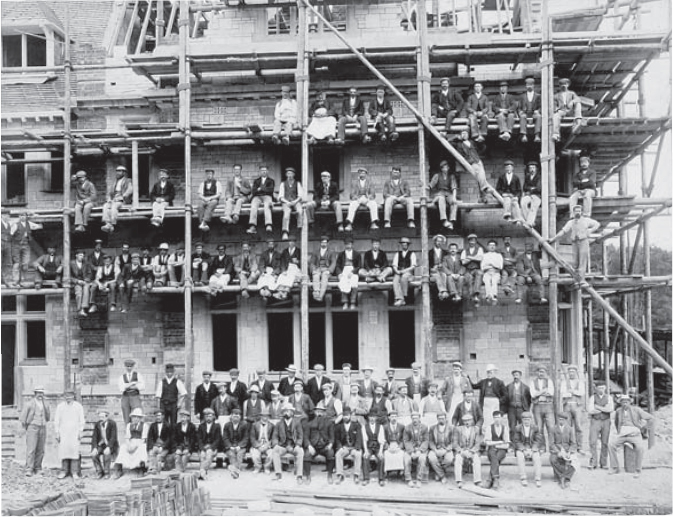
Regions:
<svg viewBox="0 0 673 517"><path fill-rule="evenodd" d="M243 165L249 179L260 164L268 165L276 185L292 166L309 193L320 172L328 170L342 189L344 211L348 185L359 167L366 167L379 185L379 203L391 167L401 167L415 201L416 228L406 227L401 210L395 210L392 228L375 232L364 222L366 216L358 215L354 247L369 249L375 233L392 258L400 237L409 237L419 259L414 294L405 306L394 305L390 283L361 283L357 310L341 308L336 282L334 294L316 302L310 296L308 254L317 249L322 233L333 239L333 249L343 248L333 214L318 213L314 227L305 225L300 232L293 219L304 281L287 301L266 304L254 293L242 298L236 284L212 298L188 274L184 287L155 288L137 296L128 313L106 310L103 297L102 310L83 318L74 309L68 266L62 288L36 290L29 271L21 287L2 290L3 405L20 405L38 384L51 394L74 385L85 404L104 403L105 397L112 403L128 357L136 359L148 380L148 404L168 362L178 367L190 392L204 369L224 378L238 366L247 380L257 367L280 373L289 363L305 373L314 363L325 364L328 373L338 372L343 362L354 368L371 364L379 378L388 366L406 377L410 364L420 361L428 376L442 378L458 359L473 379L485 376L487 363L498 365L503 378L514 368L529 377L543 364L557 380L564 364L574 363L589 380L596 372L608 376L611 368L614 379L617 355L610 359L610 350L619 328L626 330L619 364L627 365L623 380L633 384L631 359L640 357L640 350L653 351L648 289L670 282L670 277L649 274L647 226L648 219L670 207L668 193L659 197L650 188L636 195L627 189L632 171L627 165L668 137L670 114L625 117L620 109L638 90L648 65L669 51L669 30L638 26L641 4L648 3L3 1L2 206L12 215L27 209L30 220L42 224L32 234L31 263L50 245L66 258L75 249L88 254L99 238L113 256L123 242L133 250L149 245L153 254L159 243L167 242L171 250L184 246L190 256L198 241L211 253L224 243L232 254L249 241L260 253L264 232L246 234L246 217L234 226L215 219L207 233L198 229L194 206L205 169L213 169L224 183L235 163ZM425 18L427 24L418 23ZM505 159L514 160L521 179L527 160L540 161L543 195L537 231L503 220L495 198L479 202L476 180L454 158L450 145L467 119L459 114L446 137L438 132L443 120L430 124L431 92L444 76L464 96L477 81L488 94L507 81L510 92L519 95L524 79L535 78L542 95L542 141L521 143L517 120L516 138L505 142L491 119L482 159L492 185ZM564 119L561 140L555 142L552 96L561 77L569 78L581 96L583 123L572 131L572 118ZM318 90L340 104L350 87L366 100L382 82L393 99L397 141L364 144L357 128L349 127L343 145L309 145L301 129L289 145L272 143L274 105L282 85L290 85L296 95L305 128L308 105ZM601 274L604 265L592 264L595 275L579 289L574 272L562 263L570 246L543 243L568 219L571 177L580 152L591 156L599 185L592 217L601 227L593 246L638 227L644 275L625 267L622 275L609 277ZM455 163L460 176L458 219L451 231L440 225L427 197L429 178L444 159ZM115 232L104 233L99 224L102 193L114 181L118 165L130 171L133 199ZM169 171L177 189L160 229L149 220L149 191L159 169ZM83 234L72 232L70 175L78 170L87 171L99 192L94 223ZM644 170L643 184L650 179L654 171ZM618 195L606 195L617 181ZM221 204L216 215L222 209ZM278 205L273 218L272 235L282 248ZM440 302L428 275L428 250L437 233L445 233L448 243L460 249L470 233L484 247L489 239L500 243L504 236L519 250L533 243L542 253L549 303L530 295L522 304L505 296L494 306L475 307L468 299ZM620 239L627 263L625 242ZM629 314L626 293L636 290L645 293L642 319L634 318L633 310ZM608 298L618 301L615 308ZM593 339L595 311L606 314L608 332L600 343ZM629 322L636 320L634 329ZM653 361L671 372L656 353L654 360L648 357L649 382ZM118 413L116 402L114 409Z"/></svg>

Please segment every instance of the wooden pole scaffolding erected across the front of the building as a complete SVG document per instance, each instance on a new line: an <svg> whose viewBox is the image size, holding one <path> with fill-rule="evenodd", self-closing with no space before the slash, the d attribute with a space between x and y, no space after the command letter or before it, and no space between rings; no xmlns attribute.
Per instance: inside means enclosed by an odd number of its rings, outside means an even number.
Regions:
<svg viewBox="0 0 673 517"><path fill-rule="evenodd" d="M343 2L329 2L330 5L340 5ZM376 4L400 2L382 2ZM537 2L533 2L538 4ZM194 41L202 37L207 30L208 23L213 16L221 15L232 9L255 9L274 6L296 7L296 50L287 48L277 50L260 50L256 52L215 52L204 54L192 52ZM325 6L328 2L324 2ZM324 6L313 5L309 0L297 0L296 2L247 0L235 1L141 1L134 0L122 2L115 12L117 22L114 25L112 42L122 42L128 49L126 67L133 69L137 74L146 77L157 86L150 96L139 100L145 103L174 103L177 98L179 117L177 123L154 123L154 124L130 124L124 130L77 130L71 128L72 100L70 97L70 80L73 71L87 71L99 69L100 65L73 64L70 57L70 45L65 45L65 60L62 67L54 70L62 71L65 79L64 97L64 129L63 131L8 131L3 134L2 155L3 164L19 162L20 159L12 157L12 152L30 152L36 150L62 150L64 169L64 209L40 210L35 215L35 220L56 223L62 220L63 227L63 254L69 257L71 253L70 242L70 178L67 173L70 170L71 154L79 156L107 156L111 152L130 153L132 156L132 178L137 182L138 157L143 150L156 145L182 144L184 146L184 172L186 198L184 206L171 208L166 217L184 219L184 247L185 255L191 256L192 247L192 221L194 210L189 199L192 191L192 147L196 145L259 145L268 142L271 136L269 126L252 127L228 124L199 126L191 121L191 102L194 98L202 95L195 92L197 86L226 84L227 74L241 74L251 72L250 83L247 86L236 88L232 95L237 98L246 98L248 95L268 95L265 87L258 88L255 80L282 82L292 77L296 82L297 101L299 106L299 120L301 128L295 132L295 137L300 140L300 154L302 161L302 184L308 184L310 147L306 135L306 127L309 122L309 88L312 74L319 74L324 67L348 66L353 78L357 81L369 81L375 76L379 81L386 84L391 92L407 108L409 116L398 120L398 130L402 134L418 135L418 161L419 180L422 194L416 203L416 209L420 213L420 241L421 241L421 265L422 273L417 285L421 289L421 343L423 357L428 371L432 371L431 350L432 342L432 308L430 303L430 278L428 268L428 190L426 147L428 139L434 138L439 145L451 153L456 161L469 173L473 173L472 167L465 159L455 151L449 141L440 134L438 127L430 122L430 88L431 79L457 65L471 66L509 64L511 70L517 67L528 67L535 70L541 76L541 93L543 100L542 112L542 143L540 161L542 164L543 179L543 203L542 203L542 228L538 233L535 228L525 225L528 234L535 239L544 256L548 261L549 268L549 345L551 350L552 371L554 380L559 381L562 367L558 343L558 319L559 319L559 287L570 291L574 318L573 332L576 350L573 355L582 357L582 346L587 342L589 353L586 357L589 379L593 379L592 351L593 331L592 324L585 331L582 321L592 321L593 304L604 311L604 373L609 380L610 359L609 349L611 340L617 339L615 332L620 331L628 336L630 348L624 346L624 357L632 356L639 349L648 356L647 378L650 393L650 410L654 406L653 369L656 364L668 375L673 374L671 365L662 358L652 347L652 307L651 291L653 287L670 286L671 276L652 277L649 257L649 223L648 221L662 213L669 213L671 200L668 197L652 198L654 180L659 168L663 142L670 136L671 118L647 118L641 112L637 118L614 117L614 111L618 109L625 95L634 87L640 87L643 73L650 62L661 52L668 50L670 46L670 33L668 34L622 34L619 30L613 33L602 34L597 32L563 32L556 33L555 28L561 27L562 17L555 18L547 12L547 2L540 2L541 16L539 26L541 32L532 32L535 25L530 10L531 2L521 2L517 9L512 9L512 3L497 0L493 5L497 11L498 22L491 29L487 29L481 23L481 2L468 2L464 13L453 11L440 13L440 2L431 4L430 12L426 12L426 2L402 2L408 4L406 11L408 33L400 47L392 45L362 46L353 44L342 35L338 26L335 26L326 16ZM454 2L455 4L455 2ZM627 5L628 4L628 5ZM601 17L611 15L618 16L619 23L623 26L629 17L637 15L634 2L620 3L611 2L601 13L594 13ZM635 2L638 4L638 2ZM620 11L627 7L627 13ZM67 11L66 11L67 12ZM438 31L447 28L456 29L457 20L467 13L469 20L468 35L479 34L478 38L465 43L459 40L455 43L447 42L446 38L439 38ZM501 17L504 19L501 20ZM417 20L427 19L428 23L417 23ZM526 25L524 32L517 29L517 20L527 20L521 26ZM139 23L136 23L136 22ZM404 20L403 20L404 21ZM320 49L311 46L312 33L316 30L315 24L320 24L321 30L331 31L336 39L344 46L344 49L330 47ZM565 23L565 22L563 22ZM531 25L532 24L532 25ZM561 24L561 25L559 25ZM405 25L402 24L404 27ZM621 26L619 28L621 28ZM457 30L457 29L456 29ZM69 39L69 21L66 16L66 41ZM457 30L457 33L459 31ZM488 34L488 39L483 36ZM463 37L465 37L463 35ZM177 56L163 52L154 52L156 49L172 45L177 50ZM176 47L177 45L177 47ZM149 49L149 50L148 50ZM112 55L112 45L107 49ZM132 50L132 52L131 52ZM118 65L115 65L118 66ZM105 68L103 66L103 68ZM381 70L386 71L383 73ZM397 72L405 70L401 75ZM411 70L411 71L410 71ZM3 69L3 73L16 72L16 69ZM400 80L393 81L388 75L400 75ZM589 103L589 109L585 116L585 123L576 134L570 133L572 121L563 122L563 143L557 146L552 136L553 93L554 78L569 76L579 85L581 90L591 90L594 97L599 100ZM224 79L222 79L224 78ZM225 81L221 83L220 81ZM268 83L267 83L268 84ZM335 84L343 87L344 80L338 79ZM399 88L396 84L402 84ZM252 85L252 86L251 86ZM336 86L335 86L336 87ZM409 92L415 94L416 104L409 99ZM80 101L87 107L95 109L105 102L104 99ZM467 121L456 119L452 131L459 131L467 127ZM491 121L491 129L495 128ZM355 130L348 131L348 135L355 134ZM595 200L594 217L601 223L600 234L594 240L595 245L603 245L606 240L617 236L624 236L628 230L638 229L632 256L627 260L627 242L620 239L620 253L622 255L622 270L619 277L610 276L604 260L602 277L589 278L589 282L581 282L580 276L568 264L567 260L559 253L558 249L548 244L548 239L556 234L557 214L563 207L562 199L556 192L556 158L558 153L568 152L571 148L591 149L593 152L592 165L598 172L598 182L601 185L619 175L621 182L625 182L625 166L636 158L641 158L643 153L654 143L658 142L657 158L649 181L643 169L642 197L629 195L626 189L622 189L617 197L603 196ZM294 145L294 144L293 144ZM621 185L620 182L620 185ZM134 185L134 199L132 210L120 215L120 220L139 220L147 217L149 209L141 206L137 194L137 183ZM494 191L494 197L502 202L500 195ZM491 203L487 208L498 207L498 203ZM468 203L461 204L461 210L476 208ZM484 208L481 205L480 208ZM97 212L95 212L97 213ZM304 213L305 216L305 213ZM301 339L300 357L301 369L309 369L309 275L308 275L308 225L304 225L301 233L301 272L302 281L300 289L301 307ZM642 247L644 258L644 274L634 274L635 256L638 247ZM604 254L605 257L605 254ZM70 342L69 303L71 296L71 279L68 269L68 261L64 261L65 270L63 278L63 301L66 308L65 327L66 343ZM563 268L561 274L559 267ZM382 286L386 288L386 286ZM230 288L232 291L237 289ZM629 323L628 293L635 290L645 293L644 308L644 336ZM203 291L203 288L195 287L191 278L190 268L185 268L184 289L161 288L157 293L182 293L184 296L185 311L185 385L188 392L192 391L192 375L194 367L194 335L192 331L192 297ZM5 289L3 295L11 294L35 294L33 289ZM582 295L585 295L583 297ZM622 300L620 310L616 310L606 301L606 297L619 296ZM610 320L614 320L617 328L610 332ZM585 339L585 333L587 337ZM637 348L636 348L637 347ZM66 359L64 369L64 384L70 386L72 381L70 347L65 346ZM616 365L615 365L616 366ZM626 369L625 369L626 370ZM624 389L632 384L630 376L624 374ZM187 398L189 400L189 397Z"/></svg>

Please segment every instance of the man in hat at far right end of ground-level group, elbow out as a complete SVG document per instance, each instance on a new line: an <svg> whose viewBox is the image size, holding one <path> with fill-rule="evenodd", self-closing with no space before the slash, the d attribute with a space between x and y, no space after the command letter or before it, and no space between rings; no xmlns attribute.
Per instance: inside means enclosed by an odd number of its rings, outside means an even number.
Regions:
<svg viewBox="0 0 673 517"><path fill-rule="evenodd" d="M647 442L643 440L643 430L648 427L654 417L637 406L631 405L631 397L621 395L619 408L615 412L615 428L617 435L610 440L610 471L609 474L619 474L619 457L617 451L621 451L624 445L629 443L636 451L636 473L634 477L640 477L643 468L643 454Z"/></svg>

